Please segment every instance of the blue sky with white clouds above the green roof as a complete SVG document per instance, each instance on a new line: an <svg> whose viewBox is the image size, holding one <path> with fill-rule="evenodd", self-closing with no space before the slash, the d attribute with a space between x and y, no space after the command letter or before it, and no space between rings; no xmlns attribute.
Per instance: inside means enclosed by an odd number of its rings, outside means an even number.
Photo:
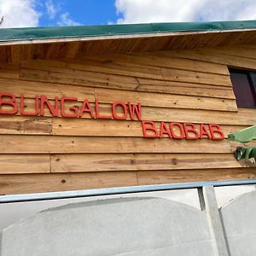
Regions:
<svg viewBox="0 0 256 256"><path fill-rule="evenodd" d="M256 0L0 0L1 27L256 20Z"/></svg>

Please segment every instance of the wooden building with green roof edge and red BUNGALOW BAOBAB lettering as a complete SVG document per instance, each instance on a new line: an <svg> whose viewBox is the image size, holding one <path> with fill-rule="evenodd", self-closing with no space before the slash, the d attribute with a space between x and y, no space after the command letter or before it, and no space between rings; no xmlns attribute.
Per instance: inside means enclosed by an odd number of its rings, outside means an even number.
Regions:
<svg viewBox="0 0 256 256"><path fill-rule="evenodd" d="M1 29L0 194L255 178L256 22ZM253 87L254 86L254 87ZM234 93L235 91L235 93Z"/></svg>

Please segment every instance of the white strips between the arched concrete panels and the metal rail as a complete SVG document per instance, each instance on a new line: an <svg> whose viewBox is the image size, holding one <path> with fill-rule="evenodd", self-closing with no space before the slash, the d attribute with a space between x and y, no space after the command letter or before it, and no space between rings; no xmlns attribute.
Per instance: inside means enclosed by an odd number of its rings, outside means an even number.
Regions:
<svg viewBox="0 0 256 256"><path fill-rule="evenodd" d="M242 185L231 187L214 188L217 197L218 207L224 206L228 201L234 199L238 195L255 190L254 185ZM7 228L11 224L15 224L22 218L28 218L37 212L42 212L51 207L60 207L70 203L81 201L95 201L99 199L110 199L119 197L160 197L172 201L187 204L191 207L200 209L198 194L196 189L177 189L168 191L145 192L126 195L103 195L93 197L79 197L46 201L25 201L15 203L0 204L0 231Z"/></svg>

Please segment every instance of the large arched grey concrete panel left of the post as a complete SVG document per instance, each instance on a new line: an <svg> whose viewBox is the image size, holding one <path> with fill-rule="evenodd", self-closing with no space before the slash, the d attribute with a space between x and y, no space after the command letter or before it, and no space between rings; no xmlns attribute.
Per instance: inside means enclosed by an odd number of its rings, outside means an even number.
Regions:
<svg viewBox="0 0 256 256"><path fill-rule="evenodd" d="M55 207L3 230L1 256L213 255L207 215L160 198Z"/></svg>

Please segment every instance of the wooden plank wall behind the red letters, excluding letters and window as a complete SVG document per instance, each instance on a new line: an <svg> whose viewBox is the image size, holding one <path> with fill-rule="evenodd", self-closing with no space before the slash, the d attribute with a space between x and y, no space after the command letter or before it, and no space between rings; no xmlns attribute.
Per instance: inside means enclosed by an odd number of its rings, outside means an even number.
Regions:
<svg viewBox="0 0 256 256"><path fill-rule="evenodd" d="M236 108L228 67L255 69L256 47L3 62L0 91L24 94L27 110L35 95L97 98L105 114L113 101L142 102L143 119L217 123L227 136L256 123L256 110ZM143 138L129 119L1 115L0 194L256 177L237 145Z"/></svg>

